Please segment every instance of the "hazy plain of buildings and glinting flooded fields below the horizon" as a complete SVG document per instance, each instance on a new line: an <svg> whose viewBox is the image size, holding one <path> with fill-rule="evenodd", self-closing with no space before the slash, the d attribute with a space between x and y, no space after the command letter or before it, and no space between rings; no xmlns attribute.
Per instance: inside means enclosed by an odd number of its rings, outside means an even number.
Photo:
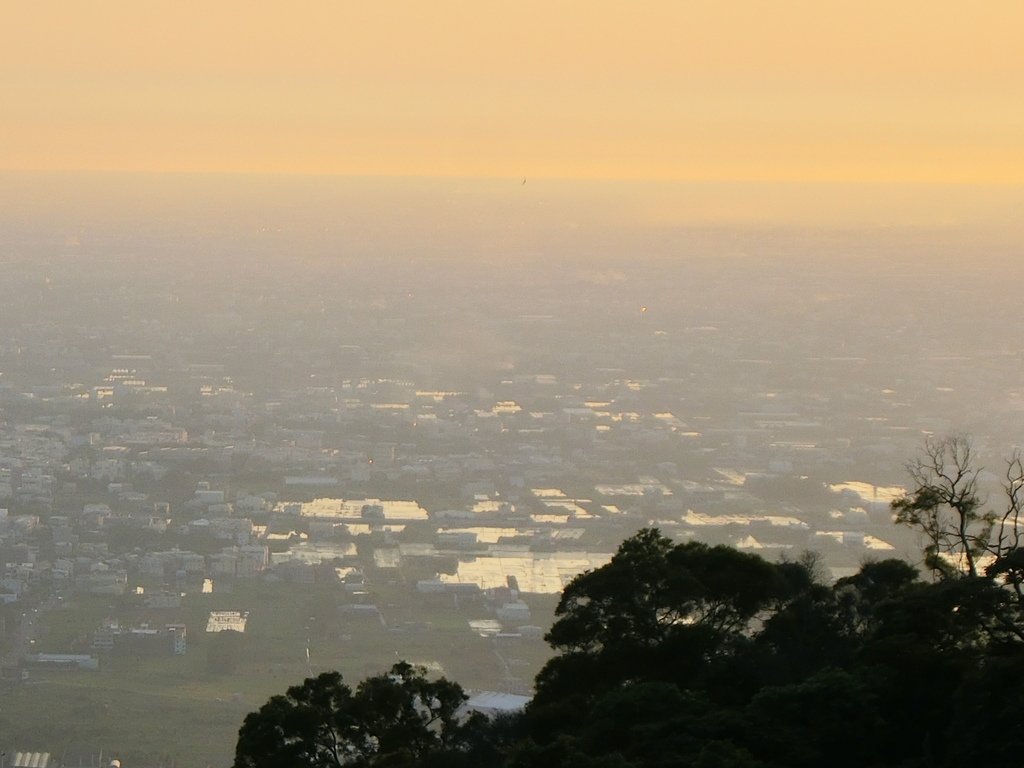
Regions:
<svg viewBox="0 0 1024 768"><path fill-rule="evenodd" d="M227 765L267 696L399 659L521 706L559 593L636 530L916 562L923 439L969 431L994 484L1024 433L996 246L552 221L15 222L7 764Z"/></svg>

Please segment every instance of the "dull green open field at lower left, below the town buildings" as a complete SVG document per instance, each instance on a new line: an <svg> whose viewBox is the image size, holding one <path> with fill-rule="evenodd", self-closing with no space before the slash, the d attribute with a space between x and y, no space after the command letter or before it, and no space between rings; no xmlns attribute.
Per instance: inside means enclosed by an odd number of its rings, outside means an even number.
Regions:
<svg viewBox="0 0 1024 768"><path fill-rule="evenodd" d="M183 622L188 652L102 656L98 672L31 670L28 682L3 690L4 749L57 756L102 750L135 766L227 766L245 715L309 671L339 670L354 685L400 658L437 665L466 688L521 689L549 655L540 640L495 641L471 633L469 618L488 616L482 602L418 595L389 571L368 577L370 594L357 600L372 601L380 614L346 612L353 598L337 583L263 581L189 594L180 609L81 597L42 613L40 650L90 653L92 632L111 618ZM534 624L549 624L553 598L530 604ZM245 634L207 634L211 610L249 611Z"/></svg>

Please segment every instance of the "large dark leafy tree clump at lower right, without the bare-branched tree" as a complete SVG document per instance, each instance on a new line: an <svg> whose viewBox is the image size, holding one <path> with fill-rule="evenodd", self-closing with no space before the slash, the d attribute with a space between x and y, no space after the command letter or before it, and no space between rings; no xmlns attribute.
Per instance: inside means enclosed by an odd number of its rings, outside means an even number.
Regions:
<svg viewBox="0 0 1024 768"><path fill-rule="evenodd" d="M513 764L951 766L1012 719L1012 687L974 688L1024 662L1000 623L1012 591L899 560L834 585L815 570L656 530L624 542L563 593Z"/></svg>

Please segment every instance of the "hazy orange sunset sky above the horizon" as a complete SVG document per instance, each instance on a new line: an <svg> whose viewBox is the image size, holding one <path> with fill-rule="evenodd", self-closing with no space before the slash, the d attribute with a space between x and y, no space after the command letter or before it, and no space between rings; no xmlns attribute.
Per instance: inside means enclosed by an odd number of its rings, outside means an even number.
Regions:
<svg viewBox="0 0 1024 768"><path fill-rule="evenodd" d="M6 169L1024 183L1021 0L3 15Z"/></svg>

